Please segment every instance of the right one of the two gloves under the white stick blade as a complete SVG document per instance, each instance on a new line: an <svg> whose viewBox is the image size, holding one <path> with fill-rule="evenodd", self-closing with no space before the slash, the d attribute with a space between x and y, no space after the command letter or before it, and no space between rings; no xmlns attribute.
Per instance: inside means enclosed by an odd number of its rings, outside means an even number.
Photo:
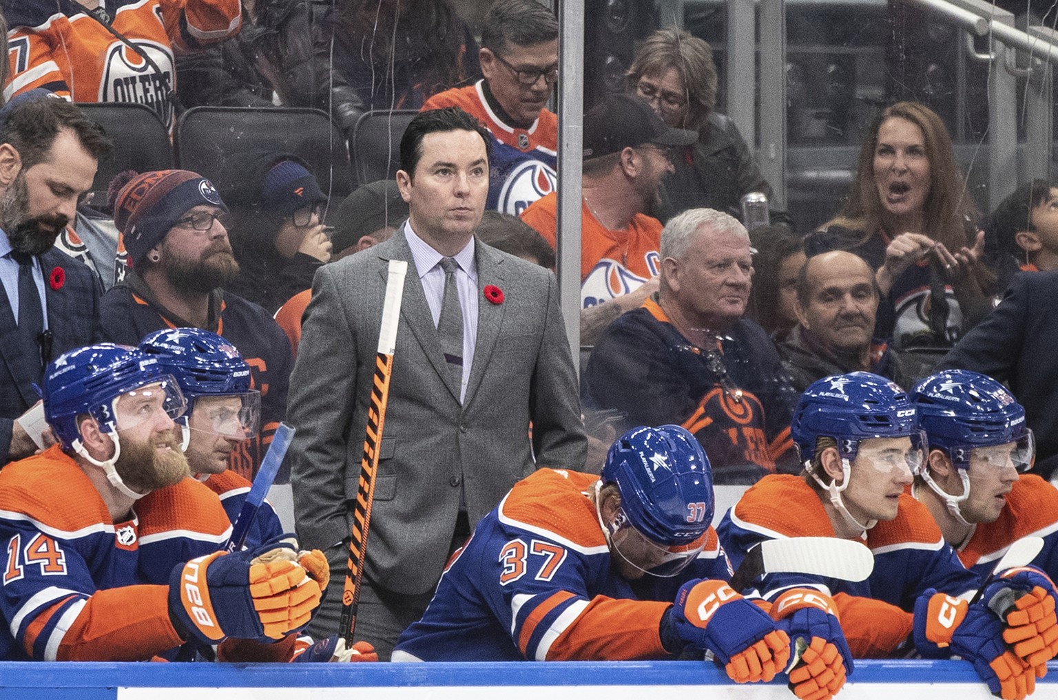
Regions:
<svg viewBox="0 0 1058 700"><path fill-rule="evenodd" d="M771 615L790 639L790 689L805 700L828 700L853 673L853 655L829 595L792 588L774 601Z"/></svg>

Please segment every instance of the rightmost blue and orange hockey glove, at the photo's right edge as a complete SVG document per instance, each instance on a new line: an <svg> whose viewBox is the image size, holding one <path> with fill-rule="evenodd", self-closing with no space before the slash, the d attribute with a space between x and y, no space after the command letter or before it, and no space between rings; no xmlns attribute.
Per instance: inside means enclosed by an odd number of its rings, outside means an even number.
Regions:
<svg viewBox="0 0 1058 700"><path fill-rule="evenodd" d="M1047 661L1058 653L1058 591L1051 577L1036 567L1007 569L985 586L981 597L1006 622L1003 640L1043 678Z"/></svg>

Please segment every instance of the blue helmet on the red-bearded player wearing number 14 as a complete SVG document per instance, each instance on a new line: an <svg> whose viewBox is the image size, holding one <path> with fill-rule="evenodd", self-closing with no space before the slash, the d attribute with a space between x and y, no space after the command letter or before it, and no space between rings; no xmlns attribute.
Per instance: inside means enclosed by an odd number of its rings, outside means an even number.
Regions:
<svg viewBox="0 0 1058 700"><path fill-rule="evenodd" d="M164 409L170 418L184 412L186 405L179 386L153 357L112 343L71 350L50 362L44 370L44 419L63 447L78 449L78 416L87 413L104 432L114 432L116 400L148 384L162 385Z"/></svg>

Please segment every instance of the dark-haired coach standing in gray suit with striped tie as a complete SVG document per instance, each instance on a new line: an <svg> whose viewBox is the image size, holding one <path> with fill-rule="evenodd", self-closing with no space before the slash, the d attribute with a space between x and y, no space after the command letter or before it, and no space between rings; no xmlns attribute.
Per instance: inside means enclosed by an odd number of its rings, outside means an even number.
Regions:
<svg viewBox="0 0 1058 700"><path fill-rule="evenodd" d="M457 108L412 121L397 172L411 218L388 241L320 269L290 377L297 534L327 553L334 582L310 629L329 635L340 633L387 266L407 261L355 629L382 659L515 481L584 465L554 276L474 238L491 147Z"/></svg>

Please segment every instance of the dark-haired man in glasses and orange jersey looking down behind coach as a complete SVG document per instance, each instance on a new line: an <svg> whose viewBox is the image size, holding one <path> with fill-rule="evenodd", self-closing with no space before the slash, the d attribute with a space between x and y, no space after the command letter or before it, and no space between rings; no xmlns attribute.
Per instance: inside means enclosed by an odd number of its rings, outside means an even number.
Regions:
<svg viewBox="0 0 1058 700"><path fill-rule="evenodd" d="M546 109L559 78L559 22L536 0L496 0L481 29L485 79L426 100L459 107L495 136L486 207L517 216L555 189L559 121Z"/></svg>

